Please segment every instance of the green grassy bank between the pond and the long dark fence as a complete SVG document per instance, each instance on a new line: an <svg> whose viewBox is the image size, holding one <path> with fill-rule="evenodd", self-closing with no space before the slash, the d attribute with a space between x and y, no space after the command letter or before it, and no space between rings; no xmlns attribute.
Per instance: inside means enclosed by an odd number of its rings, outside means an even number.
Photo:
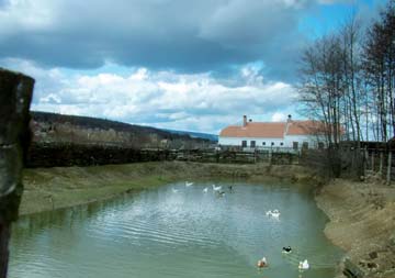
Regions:
<svg viewBox="0 0 395 278"><path fill-rule="evenodd" d="M312 180L298 166L199 164L182 162L136 163L91 167L54 167L24 170L20 214L48 211L104 200L176 180L267 179Z"/></svg>

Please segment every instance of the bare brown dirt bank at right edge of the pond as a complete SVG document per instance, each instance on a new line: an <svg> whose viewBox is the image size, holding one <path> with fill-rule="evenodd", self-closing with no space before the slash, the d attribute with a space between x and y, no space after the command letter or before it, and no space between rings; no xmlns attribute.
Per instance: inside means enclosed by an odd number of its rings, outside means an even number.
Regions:
<svg viewBox="0 0 395 278"><path fill-rule="evenodd" d="M338 179L316 201L330 219L325 234L347 252L342 269L356 277L395 277L394 187Z"/></svg>

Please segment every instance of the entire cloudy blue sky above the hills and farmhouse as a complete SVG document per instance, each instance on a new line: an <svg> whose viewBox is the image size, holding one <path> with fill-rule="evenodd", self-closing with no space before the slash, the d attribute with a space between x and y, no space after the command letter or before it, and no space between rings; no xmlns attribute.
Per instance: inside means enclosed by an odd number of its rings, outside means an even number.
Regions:
<svg viewBox="0 0 395 278"><path fill-rule="evenodd" d="M297 113L312 40L385 0L0 0L0 67L31 109L218 134Z"/></svg>

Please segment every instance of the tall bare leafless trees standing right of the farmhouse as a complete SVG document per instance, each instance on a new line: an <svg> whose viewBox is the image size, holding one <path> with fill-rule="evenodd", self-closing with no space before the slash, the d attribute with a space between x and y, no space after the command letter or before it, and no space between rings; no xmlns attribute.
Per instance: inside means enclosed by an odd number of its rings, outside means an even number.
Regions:
<svg viewBox="0 0 395 278"><path fill-rule="evenodd" d="M341 173L341 145L363 168L362 142L387 143L395 134L395 1L372 22L356 14L304 48L297 90L301 112L325 123L327 164Z"/></svg>

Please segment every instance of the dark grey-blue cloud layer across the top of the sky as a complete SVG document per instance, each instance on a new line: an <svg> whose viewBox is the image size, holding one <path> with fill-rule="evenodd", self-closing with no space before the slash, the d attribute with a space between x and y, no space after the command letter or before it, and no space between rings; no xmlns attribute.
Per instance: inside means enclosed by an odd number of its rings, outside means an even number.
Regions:
<svg viewBox="0 0 395 278"><path fill-rule="evenodd" d="M293 74L301 14L312 0L12 0L0 5L1 58L47 67L106 62L205 73L262 60Z"/></svg>

